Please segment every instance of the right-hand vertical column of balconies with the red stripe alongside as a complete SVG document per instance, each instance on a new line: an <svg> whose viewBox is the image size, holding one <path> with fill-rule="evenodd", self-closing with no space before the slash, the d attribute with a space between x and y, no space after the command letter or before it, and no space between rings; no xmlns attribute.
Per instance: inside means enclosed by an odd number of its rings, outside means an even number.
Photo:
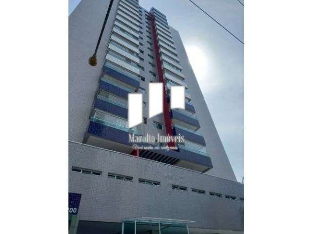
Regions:
<svg viewBox="0 0 312 234"><path fill-rule="evenodd" d="M159 81L164 83L165 90L166 99L164 99L166 103L164 103L164 117L167 134L180 134L185 137L184 144L178 144L180 152L191 151L199 155L208 156L205 149L205 140L196 132L200 128L200 125L195 116L195 108L191 102L191 95L187 91L188 86L185 82L175 41L171 35L166 16L155 8L152 8L150 13L154 19L153 31ZM185 110L169 110L170 87L176 85L185 87Z"/></svg>

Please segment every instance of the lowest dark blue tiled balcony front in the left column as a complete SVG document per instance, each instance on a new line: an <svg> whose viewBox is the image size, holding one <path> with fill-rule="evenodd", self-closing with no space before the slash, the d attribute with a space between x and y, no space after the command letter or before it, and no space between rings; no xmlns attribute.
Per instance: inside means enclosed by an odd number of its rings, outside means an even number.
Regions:
<svg viewBox="0 0 312 234"><path fill-rule="evenodd" d="M124 145L130 145L129 133L93 121L90 121L87 133Z"/></svg>

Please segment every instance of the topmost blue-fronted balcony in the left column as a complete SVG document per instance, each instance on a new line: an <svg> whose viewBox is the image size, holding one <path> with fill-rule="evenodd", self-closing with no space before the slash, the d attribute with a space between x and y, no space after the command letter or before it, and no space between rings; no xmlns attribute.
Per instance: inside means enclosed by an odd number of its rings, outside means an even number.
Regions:
<svg viewBox="0 0 312 234"><path fill-rule="evenodd" d="M134 75L130 76L129 72L122 71L116 65L105 63L103 73L105 78L121 86L125 86L130 90L136 91L140 87L138 77L135 77Z"/></svg>

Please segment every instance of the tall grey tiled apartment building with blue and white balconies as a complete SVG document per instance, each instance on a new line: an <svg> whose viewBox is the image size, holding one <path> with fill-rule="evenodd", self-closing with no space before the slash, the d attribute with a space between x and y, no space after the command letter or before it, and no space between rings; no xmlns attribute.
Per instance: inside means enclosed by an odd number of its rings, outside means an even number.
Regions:
<svg viewBox="0 0 312 234"><path fill-rule="evenodd" d="M108 5L81 0L69 17L69 192L81 196L70 232L243 233L243 185L166 16L137 0L114 0L98 65L88 64ZM164 87L163 114L152 118L150 82ZM178 85L185 110L169 108L170 87ZM142 124L131 129L129 93L143 94ZM176 150L134 150L129 134L185 141Z"/></svg>

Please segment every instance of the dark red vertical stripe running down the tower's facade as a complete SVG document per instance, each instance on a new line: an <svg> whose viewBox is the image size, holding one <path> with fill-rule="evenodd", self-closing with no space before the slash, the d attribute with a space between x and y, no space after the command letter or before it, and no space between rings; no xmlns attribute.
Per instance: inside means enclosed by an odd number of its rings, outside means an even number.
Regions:
<svg viewBox="0 0 312 234"><path fill-rule="evenodd" d="M153 33L153 40L154 40L154 50L155 50L155 56L156 56L156 64L157 64L157 73L159 77L159 82L163 83L163 113L164 113L164 119L165 119L165 126L166 126L166 133L167 136L173 136L173 130L171 125L171 118L169 114L169 105L167 102L167 93L165 89L165 83L164 83L164 77L161 69L161 61L160 61L160 55L159 55L159 47L156 37L156 28L155 28L155 18L153 14L150 13L150 18L152 20L152 33ZM175 147L176 144L174 141L171 141L168 143L169 147Z"/></svg>

